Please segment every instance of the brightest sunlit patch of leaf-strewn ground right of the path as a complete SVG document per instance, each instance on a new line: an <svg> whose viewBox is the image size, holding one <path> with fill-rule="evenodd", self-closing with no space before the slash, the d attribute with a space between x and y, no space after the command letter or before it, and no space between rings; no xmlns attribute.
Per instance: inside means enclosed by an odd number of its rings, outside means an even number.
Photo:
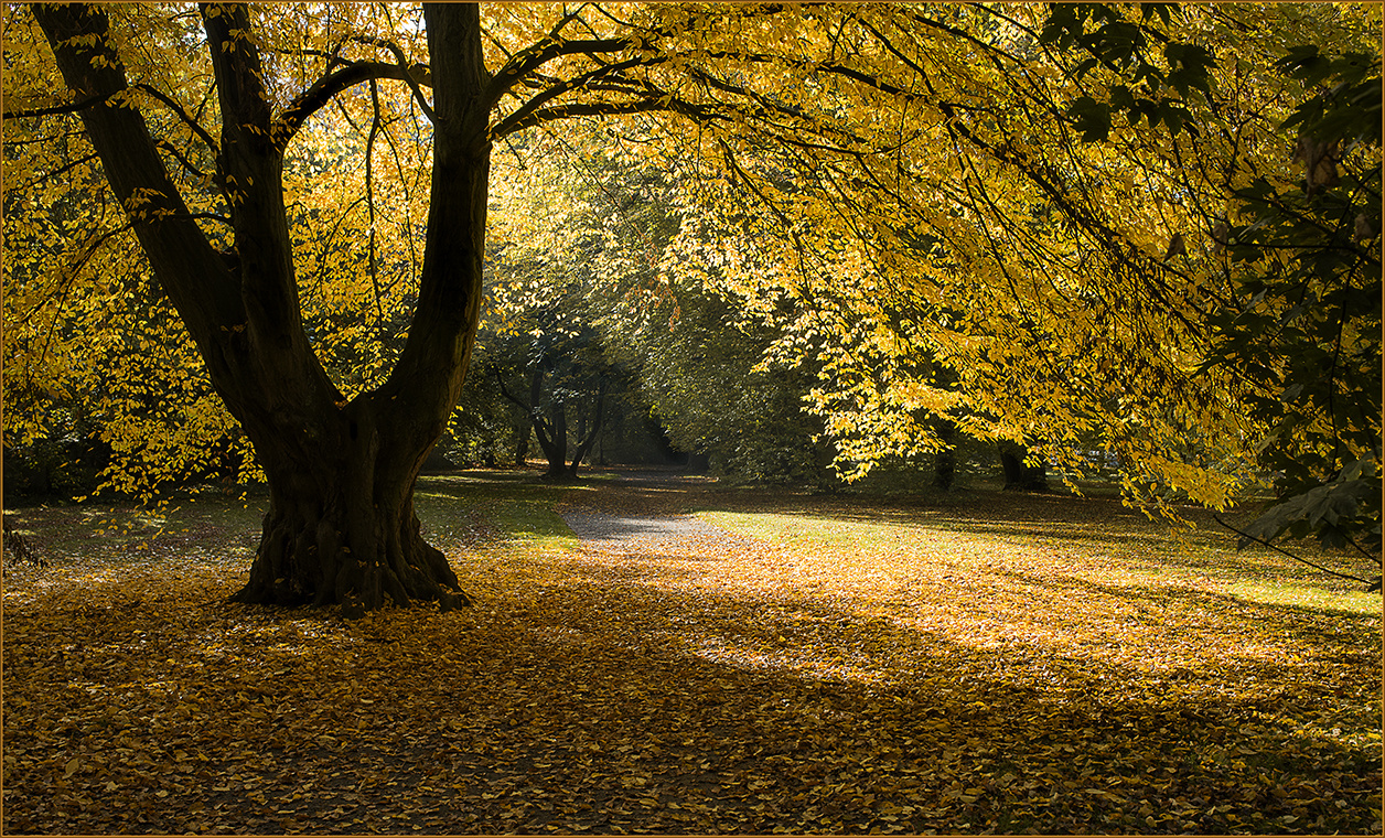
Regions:
<svg viewBox="0 0 1385 838"><path fill-rule="evenodd" d="M814 598L831 591L864 608L857 616L863 626L893 622L893 629L870 630L885 645L867 647L885 657L900 643L917 643L1004 659L1007 666L1018 666L1017 652L1046 665L1066 661L1079 670L1073 677L1097 672L1100 679L1102 670L1151 677L1217 673L1233 662L1283 665L1303 651L1280 636L1248 634L1248 612L1226 594L1379 612L1378 597L1373 604L1366 594L1334 594L1309 582L1252 583L1241 568L1217 568L1216 557L1170 562L1138 533L1053 546L1010 533L957 532L947 522L720 511L698 517L780 544L792 557L760 572L733 568L733 579L765 590L812 590ZM1267 600L1270 594L1277 598ZM745 652L720 654L747 665L773 663ZM1043 666L1037 666L1029 676L1047 683Z"/></svg>

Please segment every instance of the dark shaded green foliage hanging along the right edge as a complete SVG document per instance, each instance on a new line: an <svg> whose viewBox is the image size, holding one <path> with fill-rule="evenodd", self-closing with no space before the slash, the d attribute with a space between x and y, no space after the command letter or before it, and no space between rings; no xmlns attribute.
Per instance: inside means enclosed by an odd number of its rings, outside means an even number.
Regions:
<svg viewBox="0 0 1385 838"><path fill-rule="evenodd" d="M1316 533L1371 555L1381 546L1381 62L1291 51L1278 62L1314 91L1298 127L1299 188L1251 183L1238 312L1216 321L1216 363L1256 378L1251 406L1271 428L1260 463L1281 503L1246 537ZM1378 586L1378 582L1377 582Z"/></svg>

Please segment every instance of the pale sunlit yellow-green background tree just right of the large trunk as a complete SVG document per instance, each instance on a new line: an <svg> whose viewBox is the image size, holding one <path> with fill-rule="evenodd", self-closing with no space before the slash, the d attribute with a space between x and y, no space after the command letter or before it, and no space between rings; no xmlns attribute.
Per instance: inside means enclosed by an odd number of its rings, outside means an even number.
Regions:
<svg viewBox="0 0 1385 838"><path fill-rule="evenodd" d="M493 231L494 292L478 341L508 359L497 371L512 403L539 406L547 436L560 424L558 398L590 404L604 377L619 385L612 396L627 396L612 399L618 422L652 411L674 447L711 458L719 474L828 479L831 454L814 442L821 428L802 411L809 377L756 368L771 337L705 289L706 266L683 262L674 238L684 212L670 172L630 145L627 132L591 127L576 144L580 134L569 133L507 150L524 172L500 197L514 205ZM572 375L564 359L583 355ZM528 392L535 382L540 395ZM542 442L550 476L571 468L558 465L562 446Z"/></svg>

